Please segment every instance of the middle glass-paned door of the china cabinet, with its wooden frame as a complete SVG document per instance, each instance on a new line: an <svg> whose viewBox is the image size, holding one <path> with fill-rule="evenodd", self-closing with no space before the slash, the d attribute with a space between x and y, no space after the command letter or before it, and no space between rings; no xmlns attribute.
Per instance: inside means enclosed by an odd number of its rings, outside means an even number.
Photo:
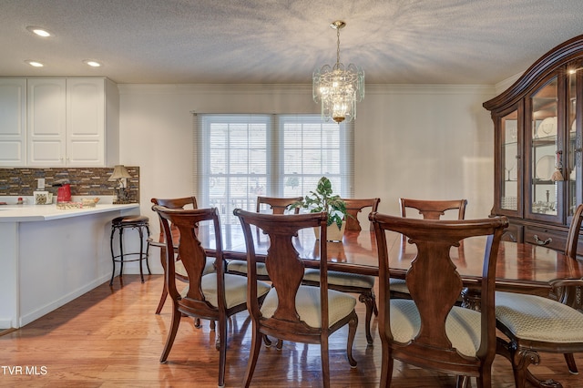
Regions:
<svg viewBox="0 0 583 388"><path fill-rule="evenodd" d="M564 103L559 90L564 78L547 77L527 98L525 133L530 180L525 201L526 216L532 220L564 222L563 166L565 152Z"/></svg>

